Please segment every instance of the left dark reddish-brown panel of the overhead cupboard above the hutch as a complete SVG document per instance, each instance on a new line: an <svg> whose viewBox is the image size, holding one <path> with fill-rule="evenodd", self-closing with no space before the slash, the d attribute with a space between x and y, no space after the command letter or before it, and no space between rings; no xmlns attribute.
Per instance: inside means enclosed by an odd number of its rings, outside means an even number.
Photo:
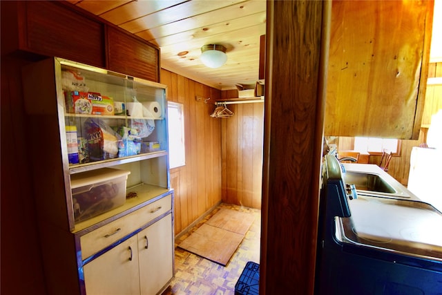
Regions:
<svg viewBox="0 0 442 295"><path fill-rule="evenodd" d="M20 49L106 66L104 23L51 2L25 2L26 19L22 19L21 28L26 29L22 32L26 44Z"/></svg>

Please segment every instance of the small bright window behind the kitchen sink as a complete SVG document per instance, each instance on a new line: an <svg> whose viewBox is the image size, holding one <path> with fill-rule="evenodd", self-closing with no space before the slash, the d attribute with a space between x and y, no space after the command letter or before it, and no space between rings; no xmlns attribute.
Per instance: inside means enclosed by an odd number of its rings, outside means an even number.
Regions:
<svg viewBox="0 0 442 295"><path fill-rule="evenodd" d="M354 150L370 155L381 155L384 150L401 155L401 140L392 138L354 137Z"/></svg>

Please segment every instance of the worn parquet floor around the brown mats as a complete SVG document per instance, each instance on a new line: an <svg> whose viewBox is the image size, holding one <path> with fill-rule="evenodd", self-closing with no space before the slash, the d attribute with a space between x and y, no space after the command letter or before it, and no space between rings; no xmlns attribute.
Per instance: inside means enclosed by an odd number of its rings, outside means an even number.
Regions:
<svg viewBox="0 0 442 295"><path fill-rule="evenodd" d="M219 209L227 208L249 212L256 216L238 250L226 267L213 263L177 247L182 240L204 224ZM260 261L261 211L232 204L220 204L188 233L175 240L175 278L162 295L233 295L235 284L247 261Z"/></svg>

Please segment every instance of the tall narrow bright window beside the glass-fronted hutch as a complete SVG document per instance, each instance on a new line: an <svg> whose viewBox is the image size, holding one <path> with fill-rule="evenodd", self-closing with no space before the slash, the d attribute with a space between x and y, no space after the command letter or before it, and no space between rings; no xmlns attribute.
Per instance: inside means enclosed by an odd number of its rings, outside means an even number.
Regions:
<svg viewBox="0 0 442 295"><path fill-rule="evenodd" d="M183 104L167 103L169 119L169 166L176 168L186 164L184 149L184 111Z"/></svg>

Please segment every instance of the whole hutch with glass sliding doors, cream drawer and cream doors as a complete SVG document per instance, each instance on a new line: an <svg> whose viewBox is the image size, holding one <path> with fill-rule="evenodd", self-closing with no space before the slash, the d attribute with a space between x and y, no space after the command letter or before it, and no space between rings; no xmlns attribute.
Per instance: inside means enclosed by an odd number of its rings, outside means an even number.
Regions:
<svg viewBox="0 0 442 295"><path fill-rule="evenodd" d="M161 278L142 280L149 290L142 294L159 292L173 277L166 86L57 57L25 66L22 78L27 168L32 169L48 293L103 294L108 289L124 294L121 285L128 294L139 293L140 272L146 273L146 267L138 267L142 230L160 236L152 239L155 250L148 251L143 265L164 267L155 273ZM130 198L83 218L71 180L102 168L130 171ZM157 228L157 222L162 226ZM125 258L128 249L132 263Z"/></svg>

